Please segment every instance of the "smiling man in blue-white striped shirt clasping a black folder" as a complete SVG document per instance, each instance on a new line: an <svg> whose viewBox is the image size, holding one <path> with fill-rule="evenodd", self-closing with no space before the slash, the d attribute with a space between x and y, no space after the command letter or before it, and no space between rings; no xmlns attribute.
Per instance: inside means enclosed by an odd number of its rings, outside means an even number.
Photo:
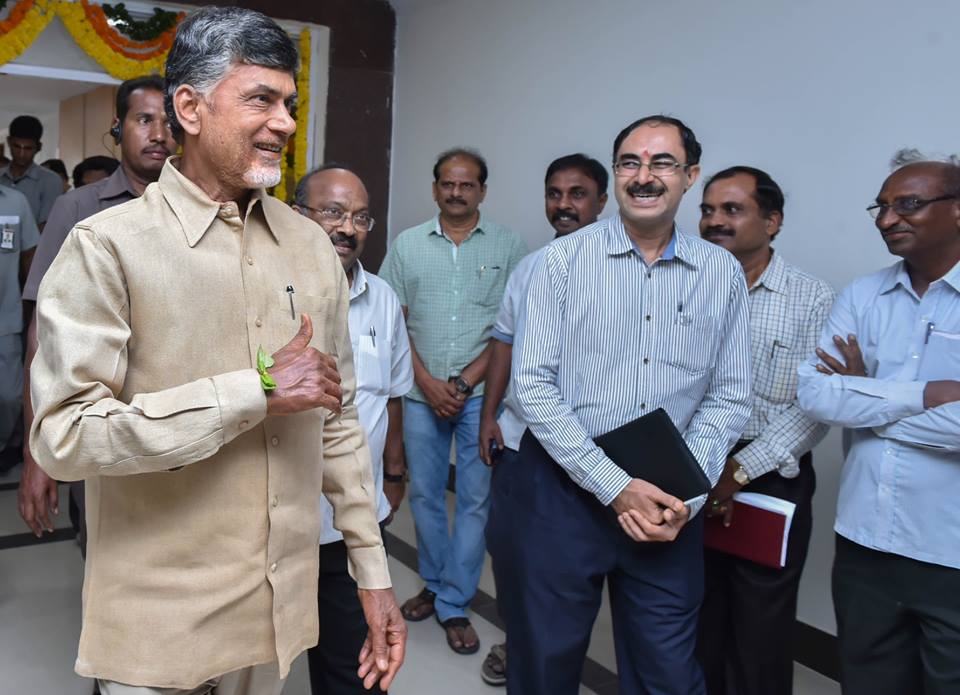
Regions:
<svg viewBox="0 0 960 695"><path fill-rule="evenodd" d="M500 578L516 587L501 597L507 681L524 695L578 691L605 578L621 692L705 692L697 513L751 394L743 271L674 222L700 151L677 119L627 126L613 148L619 214L554 241L533 272L513 367L529 431L499 487L515 529L503 562L513 576ZM619 460L594 442L660 408L669 417L656 426L682 435L675 454L652 454L664 437L637 437ZM706 474L701 484L683 469L702 493L693 498L625 470L675 473L688 454Z"/></svg>

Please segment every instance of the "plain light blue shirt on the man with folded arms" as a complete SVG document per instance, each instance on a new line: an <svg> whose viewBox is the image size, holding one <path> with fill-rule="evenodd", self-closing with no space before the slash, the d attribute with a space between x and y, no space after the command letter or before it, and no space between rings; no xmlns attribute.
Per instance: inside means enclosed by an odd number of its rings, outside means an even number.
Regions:
<svg viewBox="0 0 960 695"><path fill-rule="evenodd" d="M918 297L901 261L855 280L820 347L857 336L866 377L799 369L800 407L844 431L837 533L868 548L960 568L960 403L924 409L927 381L960 380L960 263Z"/></svg>

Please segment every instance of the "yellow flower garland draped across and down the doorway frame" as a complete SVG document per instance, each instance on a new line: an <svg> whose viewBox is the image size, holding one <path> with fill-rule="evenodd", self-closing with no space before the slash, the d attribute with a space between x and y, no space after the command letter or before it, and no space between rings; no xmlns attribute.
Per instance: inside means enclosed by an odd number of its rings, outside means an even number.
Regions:
<svg viewBox="0 0 960 695"><path fill-rule="evenodd" d="M29 0L21 0L28 2ZM118 80L129 80L149 73L162 75L167 54L146 60L136 60L113 50L94 30L87 20L83 5L71 0L34 0L17 25L0 35L0 65L16 60L37 39L54 18L59 16L67 31L84 52L97 61L107 74ZM296 182L307 171L307 129L310 123L310 30L303 29L299 36L300 71L297 74L297 132L293 141L293 167L288 171L286 163L281 168L281 180L277 192L288 195L287 184Z"/></svg>

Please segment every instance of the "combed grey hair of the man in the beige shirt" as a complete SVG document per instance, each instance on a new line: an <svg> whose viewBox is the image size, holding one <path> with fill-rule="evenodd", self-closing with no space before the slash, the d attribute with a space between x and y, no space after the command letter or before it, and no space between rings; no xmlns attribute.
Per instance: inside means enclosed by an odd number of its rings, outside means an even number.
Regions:
<svg viewBox="0 0 960 695"><path fill-rule="evenodd" d="M296 75L299 59L293 40L265 14L242 7L204 7L187 16L167 55L164 107L174 137L183 127L173 108L173 94L189 84L203 95L241 63Z"/></svg>

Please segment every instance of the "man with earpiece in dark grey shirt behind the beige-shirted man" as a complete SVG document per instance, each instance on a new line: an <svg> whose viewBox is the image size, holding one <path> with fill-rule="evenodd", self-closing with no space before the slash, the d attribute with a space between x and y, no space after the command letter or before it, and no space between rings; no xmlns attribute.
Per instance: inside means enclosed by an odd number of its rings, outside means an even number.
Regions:
<svg viewBox="0 0 960 695"><path fill-rule="evenodd" d="M89 186L75 188L57 198L50 219L40 237L37 253L30 266L30 275L23 288L27 313L33 314L40 281L53 263L60 247L80 220L101 210L126 203L143 195L146 187L157 180L167 157L177 149L167 115L163 110L163 78L156 75L127 80L117 89L116 117L110 132L120 146L120 166L107 178ZM30 405L30 365L37 352L37 326L31 320L27 329L27 354L24 360L24 431L33 423ZM44 531L53 531L51 514L59 512L57 481L43 472L24 443L23 472L17 491L20 516L39 538ZM71 519L78 532L81 552L86 550L83 481L70 485Z"/></svg>

